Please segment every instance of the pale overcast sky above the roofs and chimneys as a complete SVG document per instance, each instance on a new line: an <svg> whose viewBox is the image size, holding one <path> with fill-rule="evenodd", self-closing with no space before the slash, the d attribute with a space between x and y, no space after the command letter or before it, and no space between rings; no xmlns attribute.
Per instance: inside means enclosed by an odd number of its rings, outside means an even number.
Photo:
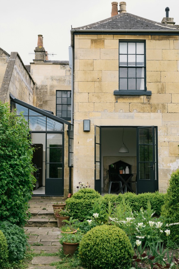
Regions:
<svg viewBox="0 0 179 269"><path fill-rule="evenodd" d="M5 0L1 1L0 47L18 52L24 64L33 61L38 35L43 35L49 60L69 60L70 29L111 16L111 0ZM120 1L118 1L119 3ZM165 8L179 24L179 0L126 0L126 11L161 22ZM119 5L118 5L119 7Z"/></svg>

